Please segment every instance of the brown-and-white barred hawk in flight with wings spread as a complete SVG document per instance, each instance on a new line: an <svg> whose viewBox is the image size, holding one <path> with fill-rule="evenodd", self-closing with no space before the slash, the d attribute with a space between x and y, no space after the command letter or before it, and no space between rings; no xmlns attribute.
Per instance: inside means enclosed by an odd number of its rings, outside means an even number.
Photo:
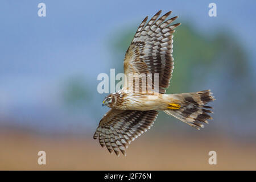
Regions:
<svg viewBox="0 0 256 182"><path fill-rule="evenodd" d="M161 10L148 23L147 17L138 27L137 32L127 49L123 68L125 75L135 74L139 84L131 81L118 92L105 97L102 105L111 109L101 119L93 138L99 140L102 147L119 156L120 151L126 155L126 148L131 141L152 127L158 110L187 123L196 129L203 128L207 119L212 119L212 107L206 106L214 97L210 90L195 93L165 94L170 84L174 58L172 42L175 28L180 23L172 24L177 16L167 17L171 11L159 17ZM158 94L151 92L146 84L146 92L142 92L142 74L151 73L151 81L158 74ZM154 87L155 82L152 83ZM139 85L139 92L131 87Z"/></svg>

